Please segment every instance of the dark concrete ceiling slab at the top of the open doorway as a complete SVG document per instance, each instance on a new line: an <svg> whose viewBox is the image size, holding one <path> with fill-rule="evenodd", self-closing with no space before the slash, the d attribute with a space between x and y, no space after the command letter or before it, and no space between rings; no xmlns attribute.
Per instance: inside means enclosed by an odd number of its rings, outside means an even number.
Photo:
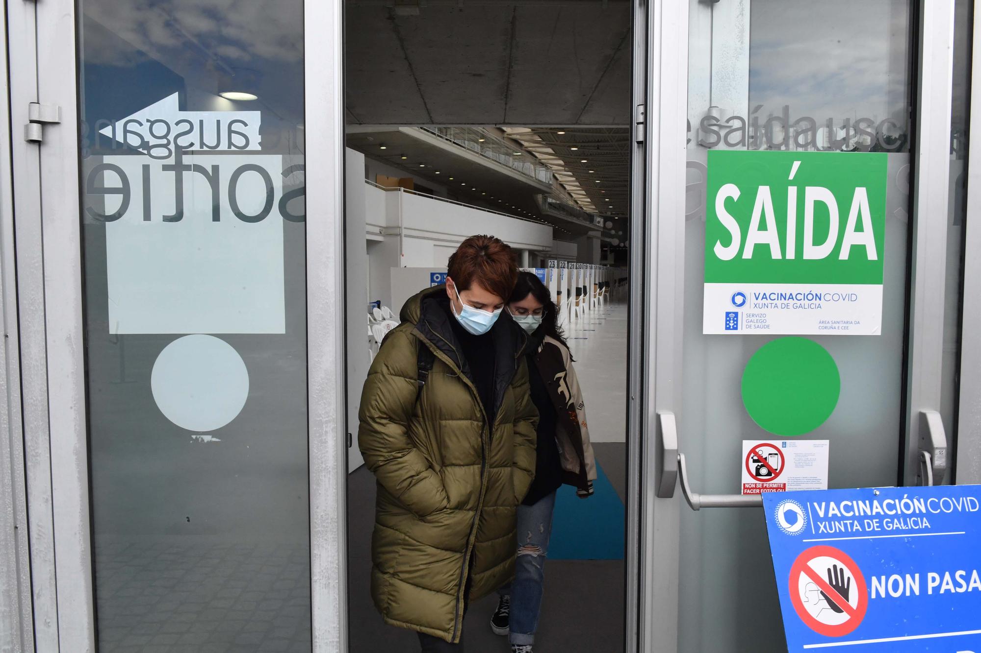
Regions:
<svg viewBox="0 0 981 653"><path fill-rule="evenodd" d="M347 0L348 124L627 126L625 0Z"/></svg>

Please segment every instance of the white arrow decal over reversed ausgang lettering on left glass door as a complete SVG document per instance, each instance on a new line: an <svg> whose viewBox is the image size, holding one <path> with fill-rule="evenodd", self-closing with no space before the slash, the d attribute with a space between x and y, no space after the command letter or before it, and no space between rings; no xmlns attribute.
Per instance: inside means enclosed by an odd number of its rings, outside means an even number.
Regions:
<svg viewBox="0 0 981 653"><path fill-rule="evenodd" d="M184 151L259 150L259 111L181 111L178 93L99 130L154 158Z"/></svg>

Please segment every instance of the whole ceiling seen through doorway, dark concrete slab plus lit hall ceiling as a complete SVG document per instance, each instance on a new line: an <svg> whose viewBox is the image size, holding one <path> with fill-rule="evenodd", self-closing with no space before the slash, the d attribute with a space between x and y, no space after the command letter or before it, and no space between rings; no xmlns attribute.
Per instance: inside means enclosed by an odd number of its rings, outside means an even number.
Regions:
<svg viewBox="0 0 981 653"><path fill-rule="evenodd" d="M547 222L556 237L595 231L599 216L606 242L622 242L630 7L346 0L347 145L449 199ZM485 134L446 134L461 130ZM544 174L518 174L517 162Z"/></svg>

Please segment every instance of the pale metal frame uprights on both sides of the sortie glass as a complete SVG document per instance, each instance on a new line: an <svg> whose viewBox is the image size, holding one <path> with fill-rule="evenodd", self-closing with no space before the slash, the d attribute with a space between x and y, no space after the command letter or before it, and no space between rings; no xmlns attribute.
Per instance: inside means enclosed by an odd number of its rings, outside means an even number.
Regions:
<svg viewBox="0 0 981 653"><path fill-rule="evenodd" d="M22 626L15 651L92 653L94 594L89 531L88 450L82 322L78 165L78 80L74 0L6 6L9 74L9 162L0 164L0 275L7 387L0 420L10 446L0 464L16 470L23 408L26 479L7 477L0 497L15 499L23 518L17 557L0 556L0 578L19 575ZM313 651L346 650L342 231L342 3L304 3L308 438ZM6 64L6 62L4 62ZM26 142L28 103L56 105L60 124L45 125L43 143ZM9 168L7 167L9 163ZM11 193L7 185L12 178ZM13 207L10 207L13 197ZM16 215L14 221L11 210ZM43 208L43 210L42 210ZM14 297L14 242L16 293ZM18 357L18 347L20 356ZM6 358L2 356L6 355ZM22 368L18 369L18 364ZM21 396L23 395L23 407ZM4 400L6 400L6 405ZM6 409L6 413L4 410ZM18 490L18 483L25 486ZM19 512L17 512L19 511ZM0 516L6 517L0 513ZM29 533L30 582L26 582ZM4 601L12 593L4 595ZM6 609L0 601L0 608ZM6 618L6 613L0 615ZM31 623L32 622L32 623ZM0 624L5 622L0 621ZM31 632L32 630L32 632ZM30 640L31 635L33 641ZM0 643L6 643L0 641Z"/></svg>

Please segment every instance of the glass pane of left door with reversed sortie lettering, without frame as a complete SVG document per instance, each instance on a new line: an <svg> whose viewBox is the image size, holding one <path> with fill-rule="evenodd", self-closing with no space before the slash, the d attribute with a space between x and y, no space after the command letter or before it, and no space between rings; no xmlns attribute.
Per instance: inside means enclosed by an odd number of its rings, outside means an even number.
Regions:
<svg viewBox="0 0 981 653"><path fill-rule="evenodd" d="M78 7L99 650L309 651L303 4Z"/></svg>

